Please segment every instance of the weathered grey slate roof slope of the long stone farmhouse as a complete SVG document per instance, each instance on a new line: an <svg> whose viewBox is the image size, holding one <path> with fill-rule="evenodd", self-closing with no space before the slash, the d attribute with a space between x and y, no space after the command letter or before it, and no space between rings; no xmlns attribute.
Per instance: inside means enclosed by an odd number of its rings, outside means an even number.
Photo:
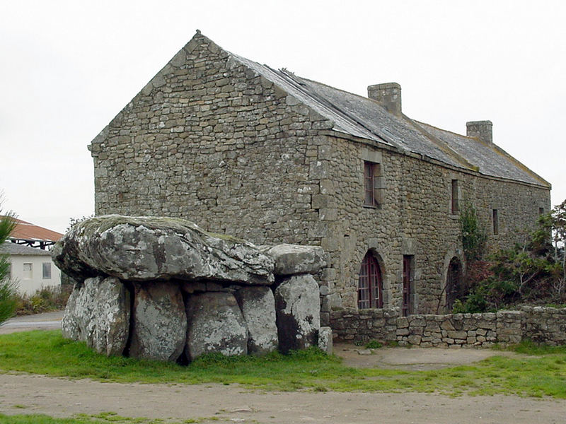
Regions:
<svg viewBox="0 0 566 424"><path fill-rule="evenodd" d="M495 144L423 124L405 114L396 116L369 98L300 78L284 69L276 71L236 54L231 56L332 121L333 131L369 139L399 151L417 153L483 175L550 188L545 179Z"/></svg>

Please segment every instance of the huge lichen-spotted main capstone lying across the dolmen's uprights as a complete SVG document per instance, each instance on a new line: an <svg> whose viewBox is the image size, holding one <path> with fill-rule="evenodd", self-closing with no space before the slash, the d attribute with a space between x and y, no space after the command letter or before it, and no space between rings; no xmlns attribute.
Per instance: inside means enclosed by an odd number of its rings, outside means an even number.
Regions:
<svg viewBox="0 0 566 424"><path fill-rule="evenodd" d="M74 225L52 257L70 276L104 273L124 281L273 282L273 259L234 237L178 218L97 216Z"/></svg>

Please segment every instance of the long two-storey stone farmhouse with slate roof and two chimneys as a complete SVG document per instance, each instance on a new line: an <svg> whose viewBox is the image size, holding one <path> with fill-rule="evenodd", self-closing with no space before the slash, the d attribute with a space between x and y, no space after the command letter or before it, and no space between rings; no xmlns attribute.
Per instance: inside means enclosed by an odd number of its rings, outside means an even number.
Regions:
<svg viewBox="0 0 566 424"><path fill-rule="evenodd" d="M256 244L318 245L333 307L450 310L465 267L459 213L490 248L550 209L550 184L492 141L226 52L199 31L92 141L96 214L175 216ZM327 295L328 294L328 295Z"/></svg>

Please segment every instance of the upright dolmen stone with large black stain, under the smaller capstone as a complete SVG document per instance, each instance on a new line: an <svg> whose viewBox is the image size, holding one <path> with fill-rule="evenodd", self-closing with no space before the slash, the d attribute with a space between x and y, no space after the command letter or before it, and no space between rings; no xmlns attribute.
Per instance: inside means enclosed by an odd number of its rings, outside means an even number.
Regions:
<svg viewBox="0 0 566 424"><path fill-rule="evenodd" d="M318 284L310 274L285 278L275 289L279 350L315 346L320 329Z"/></svg>

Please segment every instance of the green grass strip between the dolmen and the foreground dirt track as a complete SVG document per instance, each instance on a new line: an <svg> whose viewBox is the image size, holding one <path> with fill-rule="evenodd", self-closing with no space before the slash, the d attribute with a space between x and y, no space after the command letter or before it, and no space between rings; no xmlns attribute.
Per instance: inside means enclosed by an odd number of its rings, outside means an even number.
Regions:
<svg viewBox="0 0 566 424"><path fill-rule="evenodd" d="M537 356L494 356L473 365L430 371L357 369L311 349L291 355L272 353L226 358L207 355L187 367L98 355L60 331L29 331L0 336L0 372L30 372L103 382L161 384L243 384L252 389L307 391L436 392L551 396L566 399L566 346L516 351Z"/></svg>

